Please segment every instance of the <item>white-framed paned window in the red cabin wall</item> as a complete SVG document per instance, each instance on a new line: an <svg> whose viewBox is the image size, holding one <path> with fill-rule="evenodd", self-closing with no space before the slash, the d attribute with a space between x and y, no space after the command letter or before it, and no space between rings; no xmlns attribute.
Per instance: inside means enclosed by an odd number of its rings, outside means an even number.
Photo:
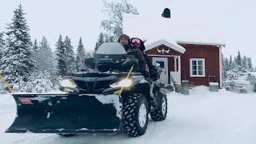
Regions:
<svg viewBox="0 0 256 144"><path fill-rule="evenodd" d="M190 58L190 77L205 76L205 58Z"/></svg>

